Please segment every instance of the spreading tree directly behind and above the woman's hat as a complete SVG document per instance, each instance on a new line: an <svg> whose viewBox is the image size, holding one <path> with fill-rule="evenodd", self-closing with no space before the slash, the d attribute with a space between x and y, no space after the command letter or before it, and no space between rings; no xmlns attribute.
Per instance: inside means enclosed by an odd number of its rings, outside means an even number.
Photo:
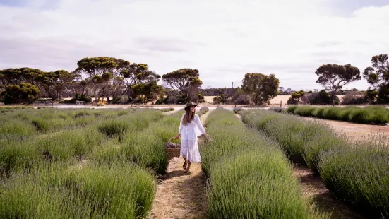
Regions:
<svg viewBox="0 0 389 219"><path fill-rule="evenodd" d="M179 94L186 101L198 100L198 89L203 82L199 78L197 69L179 69L162 76L162 81Z"/></svg>

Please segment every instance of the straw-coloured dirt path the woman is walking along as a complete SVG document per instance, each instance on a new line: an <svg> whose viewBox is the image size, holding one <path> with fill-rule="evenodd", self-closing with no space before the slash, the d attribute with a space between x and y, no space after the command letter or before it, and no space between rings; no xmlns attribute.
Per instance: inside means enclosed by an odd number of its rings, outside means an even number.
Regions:
<svg viewBox="0 0 389 219"><path fill-rule="evenodd" d="M200 117L204 124L207 114ZM205 175L198 163L191 164L191 174L184 174L184 159L173 158L167 174L157 185L148 218L206 218Z"/></svg>

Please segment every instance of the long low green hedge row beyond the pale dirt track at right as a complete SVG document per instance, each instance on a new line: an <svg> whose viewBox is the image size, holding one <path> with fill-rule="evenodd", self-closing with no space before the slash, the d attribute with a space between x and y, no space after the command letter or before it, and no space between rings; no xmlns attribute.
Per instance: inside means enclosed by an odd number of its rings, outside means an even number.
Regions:
<svg viewBox="0 0 389 219"><path fill-rule="evenodd" d="M389 109L385 107L308 107L290 106L288 113L301 117L317 117L320 119L340 120L359 124L386 124L389 121Z"/></svg>

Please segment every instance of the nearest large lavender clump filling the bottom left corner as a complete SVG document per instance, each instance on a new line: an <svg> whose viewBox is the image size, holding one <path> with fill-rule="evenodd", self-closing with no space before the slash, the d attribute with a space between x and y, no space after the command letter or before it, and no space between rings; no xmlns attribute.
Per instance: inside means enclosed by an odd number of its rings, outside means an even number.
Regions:
<svg viewBox="0 0 389 219"><path fill-rule="evenodd" d="M32 173L1 186L1 218L145 218L156 189L150 172L126 162Z"/></svg>

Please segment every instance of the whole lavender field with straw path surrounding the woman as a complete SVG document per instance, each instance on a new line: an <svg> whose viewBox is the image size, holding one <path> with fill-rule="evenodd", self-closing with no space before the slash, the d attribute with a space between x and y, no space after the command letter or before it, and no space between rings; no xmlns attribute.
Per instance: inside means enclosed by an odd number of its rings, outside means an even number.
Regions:
<svg viewBox="0 0 389 219"><path fill-rule="evenodd" d="M181 109L0 114L0 217L342 218L346 208L388 217L388 136L356 142L290 114L208 110L198 114L213 139L201 138L191 175L164 151ZM345 207L306 199L297 164Z"/></svg>

